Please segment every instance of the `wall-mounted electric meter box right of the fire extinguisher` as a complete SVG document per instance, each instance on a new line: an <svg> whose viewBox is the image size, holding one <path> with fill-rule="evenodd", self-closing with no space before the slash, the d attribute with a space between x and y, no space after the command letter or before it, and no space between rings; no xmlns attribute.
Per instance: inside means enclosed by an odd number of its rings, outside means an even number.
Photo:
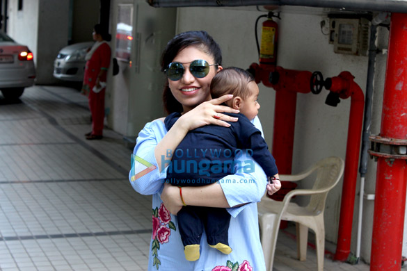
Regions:
<svg viewBox="0 0 407 271"><path fill-rule="evenodd" d="M365 18L330 18L330 43L337 54L367 56L369 20Z"/></svg>

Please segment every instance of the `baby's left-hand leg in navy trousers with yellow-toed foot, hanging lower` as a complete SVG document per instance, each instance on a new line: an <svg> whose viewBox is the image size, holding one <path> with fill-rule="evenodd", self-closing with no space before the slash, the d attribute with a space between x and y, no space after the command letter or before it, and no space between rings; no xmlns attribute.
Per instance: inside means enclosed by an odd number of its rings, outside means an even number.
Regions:
<svg viewBox="0 0 407 271"><path fill-rule="evenodd" d="M203 233L203 222L200 218L199 206L184 206L177 213L178 229L184 244L185 258L196 261L200 256L200 238Z"/></svg>

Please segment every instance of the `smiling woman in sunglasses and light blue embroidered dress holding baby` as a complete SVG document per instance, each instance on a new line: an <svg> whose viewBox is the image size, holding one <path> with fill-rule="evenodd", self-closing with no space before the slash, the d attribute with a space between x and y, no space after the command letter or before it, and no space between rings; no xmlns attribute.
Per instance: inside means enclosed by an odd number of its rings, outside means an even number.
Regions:
<svg viewBox="0 0 407 271"><path fill-rule="evenodd" d="M168 77L164 106L168 113L178 111L182 116L169 131L165 129L164 118L145 125L138 134L129 174L137 192L153 195L148 270L265 270L255 202L264 195L267 181L259 165L255 163L253 173L237 172L207 186L181 190L169 183L163 185L168 162L188 131L207 124L228 127L228 122L237 121L222 113L238 113L238 110L220 105L232 95L212 99L209 92L212 78L222 69L221 62L218 44L205 31L176 35L163 51L161 69ZM257 117L254 124L261 129ZM250 157L242 155L239 159L246 161ZM276 192L280 182L267 185L267 189L270 194ZM228 208L232 215L229 236L233 252L225 255L210 248L204 233L200 258L186 261L174 217L183 205Z"/></svg>

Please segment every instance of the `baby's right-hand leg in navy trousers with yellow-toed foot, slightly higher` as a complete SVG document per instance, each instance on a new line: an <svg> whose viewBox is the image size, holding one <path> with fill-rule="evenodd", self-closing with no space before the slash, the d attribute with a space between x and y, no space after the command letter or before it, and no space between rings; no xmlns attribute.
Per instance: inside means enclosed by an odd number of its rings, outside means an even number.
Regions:
<svg viewBox="0 0 407 271"><path fill-rule="evenodd" d="M204 225L208 244L224 254L230 254L232 252L228 241L230 214L225 208L207 207L206 211Z"/></svg>

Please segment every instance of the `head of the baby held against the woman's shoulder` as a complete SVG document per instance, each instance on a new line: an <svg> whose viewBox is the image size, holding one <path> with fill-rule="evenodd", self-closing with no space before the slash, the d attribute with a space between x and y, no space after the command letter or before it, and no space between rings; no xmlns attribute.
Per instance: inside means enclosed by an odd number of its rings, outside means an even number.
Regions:
<svg viewBox="0 0 407 271"><path fill-rule="evenodd" d="M239 109L240 113L253 120L259 113L257 103L259 87L253 75L238 67L227 67L214 76L211 82L213 99L232 94L233 99L226 101L228 106Z"/></svg>

